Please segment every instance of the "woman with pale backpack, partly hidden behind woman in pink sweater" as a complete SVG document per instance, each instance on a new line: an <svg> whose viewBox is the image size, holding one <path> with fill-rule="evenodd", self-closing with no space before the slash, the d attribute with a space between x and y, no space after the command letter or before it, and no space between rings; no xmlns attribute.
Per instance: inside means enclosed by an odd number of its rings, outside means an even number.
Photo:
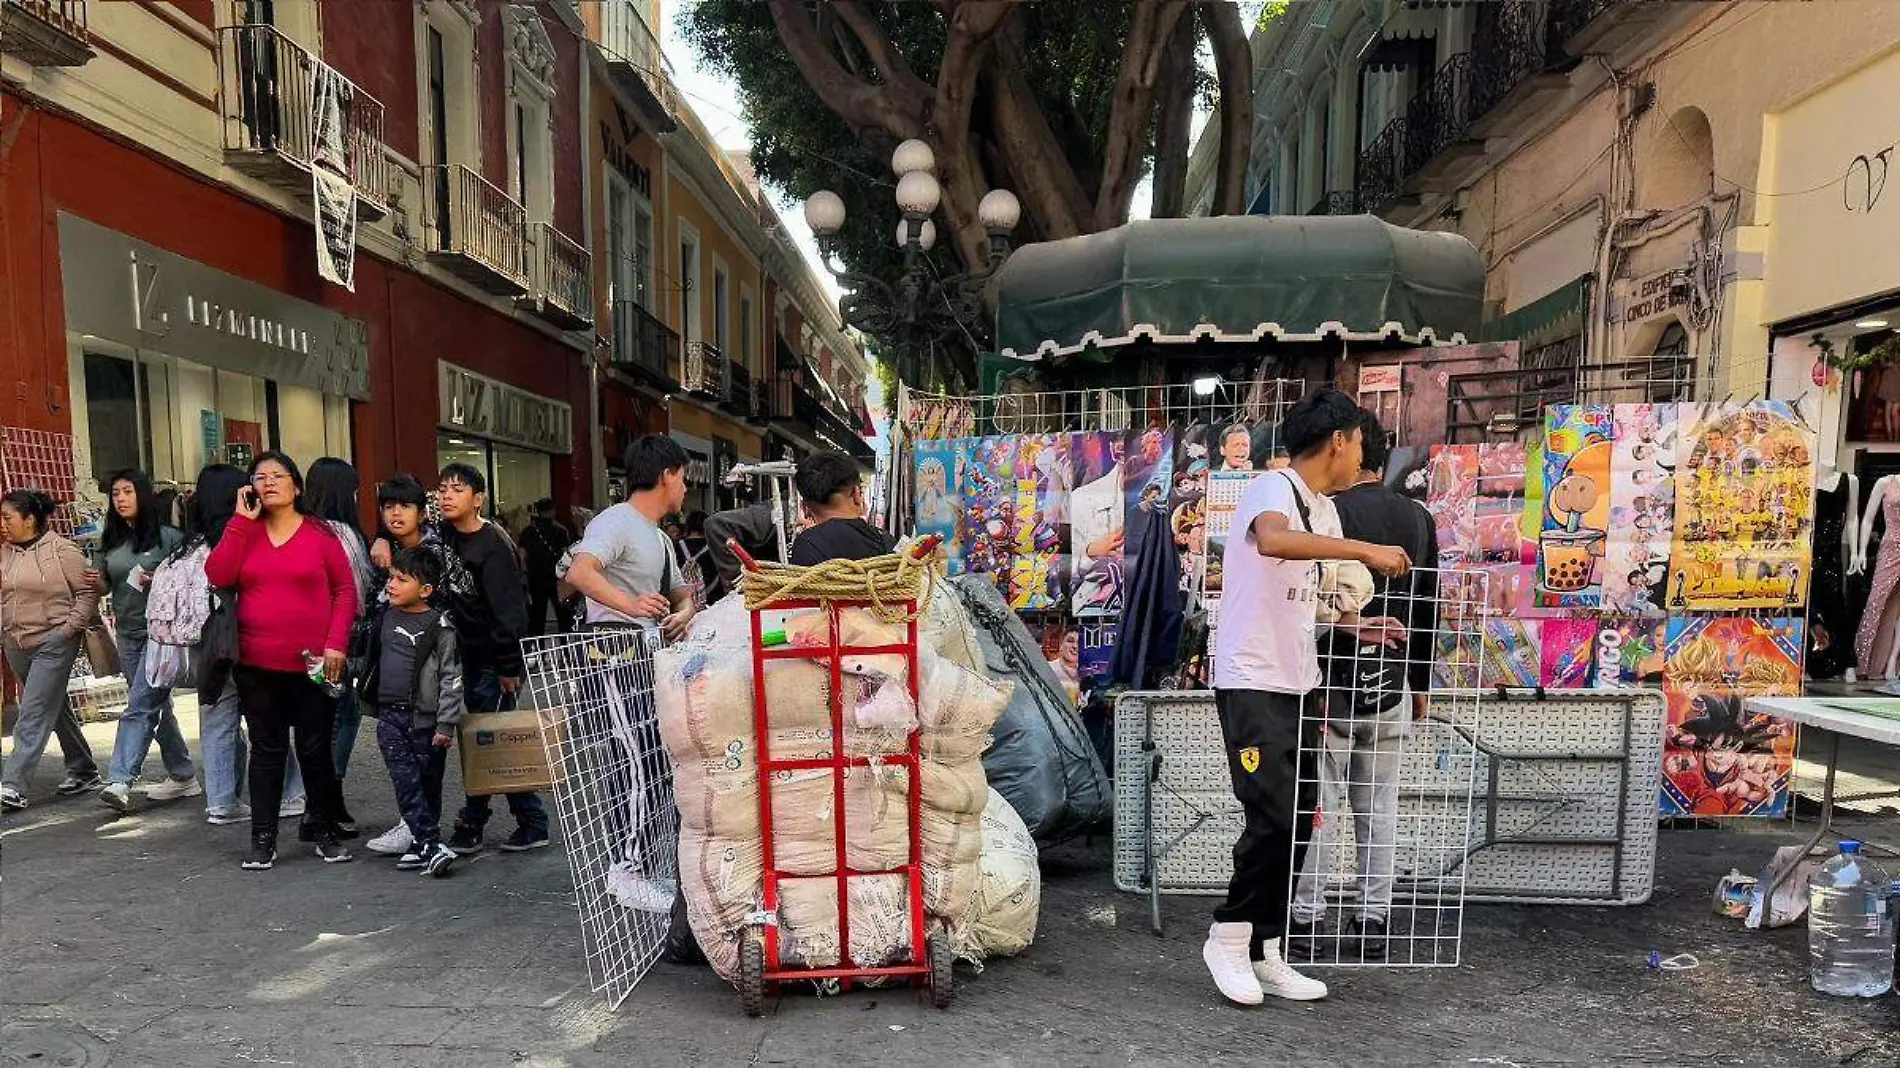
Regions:
<svg viewBox="0 0 1900 1068"><path fill-rule="evenodd" d="M205 557L224 538L224 530L238 513L238 490L251 485L251 477L230 464L211 464L198 473L192 492L190 515L194 538L186 542L160 570L180 568L180 583L194 601L209 599L209 580L205 578ZM205 620L194 621L192 642L201 640ZM243 802L245 764L249 747L245 745L243 715L238 701L238 686L230 680L232 665L207 665L198 690L198 745L205 766L205 823L224 827L249 823L251 806ZM291 753L283 772L283 792L279 794L279 817L304 815L304 775Z"/></svg>

